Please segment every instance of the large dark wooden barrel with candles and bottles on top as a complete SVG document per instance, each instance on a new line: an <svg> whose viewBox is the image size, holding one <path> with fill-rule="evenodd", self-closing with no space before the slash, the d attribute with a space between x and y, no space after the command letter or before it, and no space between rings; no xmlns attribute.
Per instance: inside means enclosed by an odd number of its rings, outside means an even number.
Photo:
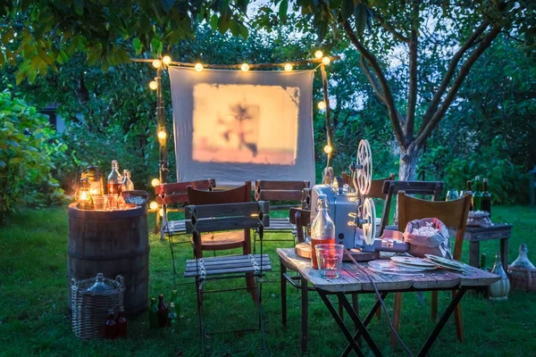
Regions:
<svg viewBox="0 0 536 357"><path fill-rule="evenodd" d="M124 309L137 314L147 309L149 288L149 239L147 206L125 211L83 211L69 206L67 259L68 306L71 310L71 278L106 278L122 275Z"/></svg>

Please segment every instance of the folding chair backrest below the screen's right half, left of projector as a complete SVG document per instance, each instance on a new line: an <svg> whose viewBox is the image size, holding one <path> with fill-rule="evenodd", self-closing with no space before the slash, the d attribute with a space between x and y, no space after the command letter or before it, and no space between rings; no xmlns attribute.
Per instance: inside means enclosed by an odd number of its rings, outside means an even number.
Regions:
<svg viewBox="0 0 536 357"><path fill-rule="evenodd" d="M311 183L305 181L273 181L266 179L255 180L255 201L292 201L301 203L302 191L309 188ZM274 209L289 208L273 206Z"/></svg>

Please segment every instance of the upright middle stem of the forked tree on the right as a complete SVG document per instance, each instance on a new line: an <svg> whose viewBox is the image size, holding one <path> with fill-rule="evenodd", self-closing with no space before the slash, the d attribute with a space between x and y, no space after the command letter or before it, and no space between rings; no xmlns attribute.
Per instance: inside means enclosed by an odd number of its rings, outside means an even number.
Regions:
<svg viewBox="0 0 536 357"><path fill-rule="evenodd" d="M404 132L407 140L413 139L415 130L415 106L417 104L417 29L419 29L419 2L413 6L411 39L409 41L409 88L407 92L406 123Z"/></svg>

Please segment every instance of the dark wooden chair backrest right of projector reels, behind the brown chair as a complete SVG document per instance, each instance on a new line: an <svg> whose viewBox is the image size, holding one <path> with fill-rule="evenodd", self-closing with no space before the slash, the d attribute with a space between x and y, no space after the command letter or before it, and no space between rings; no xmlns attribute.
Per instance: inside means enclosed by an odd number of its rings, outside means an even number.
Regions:
<svg viewBox="0 0 536 357"><path fill-rule="evenodd" d="M383 195L385 195L385 202L381 214L380 229L378 229L380 237L385 227L389 224L390 205L393 195L397 195L399 191L405 191L407 195L431 195L432 201L436 201L440 197L442 190L443 182L441 181L385 181L382 189Z"/></svg>

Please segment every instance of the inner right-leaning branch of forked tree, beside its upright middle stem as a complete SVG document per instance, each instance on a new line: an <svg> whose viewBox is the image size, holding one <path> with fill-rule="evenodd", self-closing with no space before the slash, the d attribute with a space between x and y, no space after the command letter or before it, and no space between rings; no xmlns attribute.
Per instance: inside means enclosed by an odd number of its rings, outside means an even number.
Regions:
<svg viewBox="0 0 536 357"><path fill-rule="evenodd" d="M483 21L482 24L477 29L474 30L473 35L471 35L471 37L467 39L464 46L462 46L459 50L457 50L456 54L452 56L452 59L448 63L448 70L443 76L443 80L441 81L440 87L431 98L431 103L428 106L428 109L426 110L426 112L424 112L423 114L423 122L421 124L419 135L423 132L423 129L431 120L431 117L434 114L434 112L437 111L438 106L440 105L441 97L445 94L445 91L448 88L448 83L450 83L450 80L454 77L458 63L460 62L464 54L473 46L476 39L482 35L484 30L487 29L489 25L490 25L490 22Z"/></svg>

